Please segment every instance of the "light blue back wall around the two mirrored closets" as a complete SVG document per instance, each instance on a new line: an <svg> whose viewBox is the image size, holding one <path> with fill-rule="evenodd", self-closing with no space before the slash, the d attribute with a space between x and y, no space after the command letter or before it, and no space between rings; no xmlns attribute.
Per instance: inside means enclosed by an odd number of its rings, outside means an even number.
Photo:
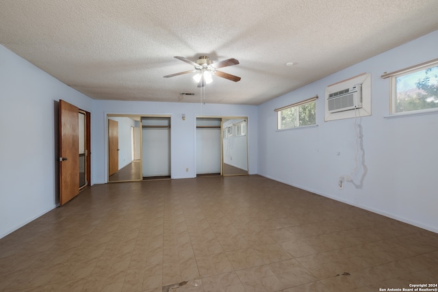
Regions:
<svg viewBox="0 0 438 292"><path fill-rule="evenodd" d="M208 96L206 97L208 100ZM249 172L257 174L257 107L206 103L94 101L92 111L92 182L107 182L107 114L170 116L170 171L172 178L196 177L196 117L248 117ZM185 120L182 115L185 114ZM94 166L95 165L95 166ZM186 172L186 168L189 169Z"/></svg>

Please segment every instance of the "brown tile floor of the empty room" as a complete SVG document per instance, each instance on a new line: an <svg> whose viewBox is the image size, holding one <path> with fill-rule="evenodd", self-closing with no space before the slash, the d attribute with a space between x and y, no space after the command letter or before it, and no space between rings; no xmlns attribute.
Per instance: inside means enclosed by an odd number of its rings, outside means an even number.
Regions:
<svg viewBox="0 0 438 292"><path fill-rule="evenodd" d="M379 291L438 235L261 176L94 185L0 239L0 291Z"/></svg>

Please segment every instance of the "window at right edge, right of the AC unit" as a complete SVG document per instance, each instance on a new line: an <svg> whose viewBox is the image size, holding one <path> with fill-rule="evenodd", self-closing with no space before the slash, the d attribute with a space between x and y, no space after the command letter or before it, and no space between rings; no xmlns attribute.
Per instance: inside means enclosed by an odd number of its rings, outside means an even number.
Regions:
<svg viewBox="0 0 438 292"><path fill-rule="evenodd" d="M438 59L383 75L391 79L391 114L438 109Z"/></svg>

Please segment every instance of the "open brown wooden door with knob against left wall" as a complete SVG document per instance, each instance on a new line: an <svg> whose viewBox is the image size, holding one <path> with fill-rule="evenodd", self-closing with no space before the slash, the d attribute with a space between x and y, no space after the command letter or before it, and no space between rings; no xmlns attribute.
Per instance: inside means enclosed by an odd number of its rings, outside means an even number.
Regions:
<svg viewBox="0 0 438 292"><path fill-rule="evenodd" d="M79 108L60 101L60 205L79 194Z"/></svg>

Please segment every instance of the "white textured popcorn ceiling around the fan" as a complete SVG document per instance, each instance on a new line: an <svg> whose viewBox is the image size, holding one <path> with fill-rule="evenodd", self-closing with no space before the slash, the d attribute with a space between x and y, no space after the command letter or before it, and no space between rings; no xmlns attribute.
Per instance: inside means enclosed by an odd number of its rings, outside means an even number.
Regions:
<svg viewBox="0 0 438 292"><path fill-rule="evenodd" d="M0 43L94 99L258 105L438 29L437 0L1 0ZM295 62L294 66L285 66ZM183 96L181 92L194 93Z"/></svg>

